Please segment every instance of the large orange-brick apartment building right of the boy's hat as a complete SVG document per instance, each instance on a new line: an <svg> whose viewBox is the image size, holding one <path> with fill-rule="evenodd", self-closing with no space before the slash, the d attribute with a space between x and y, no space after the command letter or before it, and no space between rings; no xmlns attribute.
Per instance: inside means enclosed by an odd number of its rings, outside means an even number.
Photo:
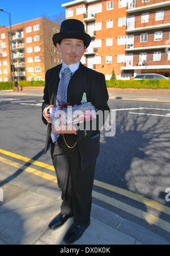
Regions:
<svg viewBox="0 0 170 256"><path fill-rule="evenodd" d="M64 3L66 19L81 20L92 41L82 57L87 67L111 79L137 73L170 75L170 1L75 0Z"/></svg>

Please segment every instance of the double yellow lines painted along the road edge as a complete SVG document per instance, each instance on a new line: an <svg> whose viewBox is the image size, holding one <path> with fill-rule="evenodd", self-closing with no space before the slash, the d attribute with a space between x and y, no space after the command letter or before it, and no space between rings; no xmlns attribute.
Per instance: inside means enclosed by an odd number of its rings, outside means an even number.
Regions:
<svg viewBox="0 0 170 256"><path fill-rule="evenodd" d="M3 155L10 156L12 158L18 159L18 160L22 160L23 162L31 163L31 164L34 164L35 166L39 166L39 167L45 168L47 170L54 171L54 167L49 165L49 164L42 163L42 162L39 162L37 160L33 160L31 158L26 158L25 156L14 154L12 152L2 150L1 148L0 148L0 153L3 154ZM19 168L19 169L24 170L26 172L29 172L33 175L40 176L40 177L42 177L46 180L50 180L50 181L53 181L53 182L57 183L56 175L53 176L53 175L50 175L50 174L46 174L45 172L38 171L38 170L36 170L32 167L27 167L23 164L16 163L12 160L3 158L1 156L0 156L0 162L8 164L8 165L10 165L12 167L15 167L15 168ZM154 209L158 210L159 212L163 212L163 213L166 213L166 214L170 215L170 208L169 207L167 207L163 204L157 203L156 201L147 199L144 196L138 195L136 193L127 191L126 189L122 189L122 188L116 187L116 186L111 185L111 184L101 182L99 180L94 180L94 185L96 185L97 187L101 187L101 188L107 189L109 191L118 193L119 195L129 197L130 199L138 201L139 203L142 203L142 204L146 205L147 207L154 208ZM159 226L160 228L162 228L164 230L167 230L167 231L170 230L169 222L164 221L164 220L160 219L159 217L156 217L153 214L150 214L150 213L147 213L143 210L139 210L137 208L131 207L128 204L122 203L121 201L118 201L116 199L113 199L112 197L103 195L103 194L101 194L99 192L96 192L96 191L93 191L92 195L93 195L93 197L95 197L98 200L104 201L105 203L111 204L111 205L113 205L114 207L116 207L118 209L122 209L126 212L129 212L129 213L133 214L134 216L142 218L150 224L154 224L156 226Z"/></svg>

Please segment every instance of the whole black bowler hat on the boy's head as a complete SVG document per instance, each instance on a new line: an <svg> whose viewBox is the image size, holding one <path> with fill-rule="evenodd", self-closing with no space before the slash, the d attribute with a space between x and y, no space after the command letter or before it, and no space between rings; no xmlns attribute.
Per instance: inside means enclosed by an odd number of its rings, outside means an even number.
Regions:
<svg viewBox="0 0 170 256"><path fill-rule="evenodd" d="M66 19L61 23L60 32L53 35L54 46L60 40L67 38L83 40L86 48L91 42L91 36L85 33L84 24L78 19Z"/></svg>

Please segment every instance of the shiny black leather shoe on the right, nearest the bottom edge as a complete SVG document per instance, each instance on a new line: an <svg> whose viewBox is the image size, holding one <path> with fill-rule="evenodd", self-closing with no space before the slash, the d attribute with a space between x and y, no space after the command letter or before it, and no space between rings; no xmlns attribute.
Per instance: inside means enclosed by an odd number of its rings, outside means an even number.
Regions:
<svg viewBox="0 0 170 256"><path fill-rule="evenodd" d="M69 230L67 231L67 233L65 234L65 237L63 238L63 241L65 243L73 243L76 240L78 240L85 229L87 229L87 227L90 225L90 222L88 222L87 225L84 226L80 226L80 225L75 225L75 223L73 223Z"/></svg>

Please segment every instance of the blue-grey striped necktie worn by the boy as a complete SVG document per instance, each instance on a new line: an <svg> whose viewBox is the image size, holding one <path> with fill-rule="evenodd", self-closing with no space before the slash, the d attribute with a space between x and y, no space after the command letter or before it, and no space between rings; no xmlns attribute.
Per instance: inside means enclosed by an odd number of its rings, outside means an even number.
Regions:
<svg viewBox="0 0 170 256"><path fill-rule="evenodd" d="M56 97L56 107L59 109L59 102L64 101L67 102L67 88L69 85L69 81L71 79L71 71L68 67L66 67L63 72L61 72L61 79L59 80L57 97ZM59 137L59 133L51 133L53 143L57 141Z"/></svg>

